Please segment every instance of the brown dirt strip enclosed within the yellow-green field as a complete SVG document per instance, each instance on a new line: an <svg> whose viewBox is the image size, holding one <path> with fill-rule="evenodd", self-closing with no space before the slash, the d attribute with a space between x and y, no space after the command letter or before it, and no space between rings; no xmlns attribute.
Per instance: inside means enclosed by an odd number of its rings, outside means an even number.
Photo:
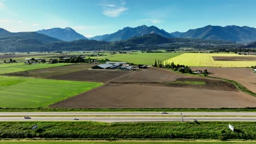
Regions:
<svg viewBox="0 0 256 144"><path fill-rule="evenodd" d="M214 61L256 61L256 56L251 57L212 57Z"/></svg>

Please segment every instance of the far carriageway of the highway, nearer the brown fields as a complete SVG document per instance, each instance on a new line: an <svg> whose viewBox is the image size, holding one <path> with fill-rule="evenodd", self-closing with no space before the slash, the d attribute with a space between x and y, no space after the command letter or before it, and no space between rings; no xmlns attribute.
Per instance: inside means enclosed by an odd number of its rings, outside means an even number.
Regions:
<svg viewBox="0 0 256 144"><path fill-rule="evenodd" d="M256 112L182 112L183 116L255 116ZM180 112L0 112L1 116L181 116Z"/></svg>

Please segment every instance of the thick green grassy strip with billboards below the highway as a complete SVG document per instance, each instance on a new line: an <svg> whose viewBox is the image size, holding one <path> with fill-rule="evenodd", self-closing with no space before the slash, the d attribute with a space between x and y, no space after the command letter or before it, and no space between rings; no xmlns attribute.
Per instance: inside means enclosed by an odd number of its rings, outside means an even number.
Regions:
<svg viewBox="0 0 256 144"><path fill-rule="evenodd" d="M256 140L255 129L256 122L0 122L0 139Z"/></svg>

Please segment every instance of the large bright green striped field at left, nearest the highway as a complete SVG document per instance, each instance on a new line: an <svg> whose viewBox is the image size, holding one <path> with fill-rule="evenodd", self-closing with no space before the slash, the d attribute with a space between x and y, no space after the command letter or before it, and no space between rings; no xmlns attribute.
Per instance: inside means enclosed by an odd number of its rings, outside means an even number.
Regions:
<svg viewBox="0 0 256 144"><path fill-rule="evenodd" d="M0 107L46 107L102 83L0 76Z"/></svg>

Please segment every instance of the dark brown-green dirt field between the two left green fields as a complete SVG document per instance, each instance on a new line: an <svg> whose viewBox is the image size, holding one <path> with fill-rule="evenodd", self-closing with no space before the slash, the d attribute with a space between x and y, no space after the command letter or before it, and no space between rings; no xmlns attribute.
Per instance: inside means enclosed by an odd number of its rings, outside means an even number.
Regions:
<svg viewBox="0 0 256 144"><path fill-rule="evenodd" d="M130 74L133 71L121 70L89 70L93 64L74 64L62 67L37 69L9 73L10 76L40 77L54 80L87 81L87 82L108 82L120 76Z"/></svg>

